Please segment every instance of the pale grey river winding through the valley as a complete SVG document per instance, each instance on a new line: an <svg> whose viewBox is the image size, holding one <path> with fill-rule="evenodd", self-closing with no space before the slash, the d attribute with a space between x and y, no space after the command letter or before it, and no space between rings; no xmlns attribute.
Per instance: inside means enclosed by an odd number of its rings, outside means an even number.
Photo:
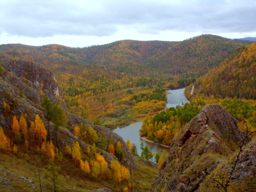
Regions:
<svg viewBox="0 0 256 192"><path fill-rule="evenodd" d="M187 103L189 102L187 98L185 97L184 94L185 88L180 88L180 89L173 89L173 90L168 90L166 97L167 97L167 103L166 103L166 108L170 107L176 107L177 105L182 105L182 103ZM147 141L144 141L140 138L140 128L142 125L142 121L130 124L125 127L117 127L116 129L113 130L113 132L117 133L121 137L123 137L124 141L126 142L128 139L136 145L138 154L141 154L141 149L140 149L140 143L143 142L144 146L147 145L148 148L150 149L151 152L157 153L159 148L163 150L168 150L169 148L157 145L155 143L150 143Z"/></svg>

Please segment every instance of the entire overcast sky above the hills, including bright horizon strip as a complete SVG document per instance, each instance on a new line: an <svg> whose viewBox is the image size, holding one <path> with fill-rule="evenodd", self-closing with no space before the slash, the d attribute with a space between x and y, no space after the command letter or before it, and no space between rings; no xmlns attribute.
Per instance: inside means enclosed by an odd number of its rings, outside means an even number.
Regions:
<svg viewBox="0 0 256 192"><path fill-rule="evenodd" d="M256 37L256 0L0 0L0 44Z"/></svg>

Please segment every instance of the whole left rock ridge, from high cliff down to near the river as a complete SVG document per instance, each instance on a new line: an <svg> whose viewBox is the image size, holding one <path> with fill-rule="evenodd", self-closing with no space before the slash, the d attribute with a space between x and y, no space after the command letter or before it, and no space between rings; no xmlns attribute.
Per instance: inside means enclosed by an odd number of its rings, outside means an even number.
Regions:
<svg viewBox="0 0 256 192"><path fill-rule="evenodd" d="M28 115L29 122L35 120L36 114L46 122L43 112L39 110L41 91L52 101L59 101L60 106L66 111L68 129L62 127L57 132L57 138L61 144L60 147L65 147L66 144L71 146L73 142L78 141L81 148L85 150L88 145L77 139L69 130L72 130L77 125L86 124L92 126L98 136L100 136L100 132L103 132L106 137L112 138L115 142L120 141L125 151L124 164L129 164L130 161L134 162L132 154L119 135L106 127L94 126L86 119L72 115L67 111L62 97L62 89L56 83L53 73L36 62L0 60L0 125L5 129L10 129L12 116L20 116L22 113ZM4 102L10 106L10 110L4 108ZM53 137L54 128L52 124L50 124L50 135L54 143L55 137ZM105 151L103 156L109 162L112 159L116 159L111 153Z"/></svg>

